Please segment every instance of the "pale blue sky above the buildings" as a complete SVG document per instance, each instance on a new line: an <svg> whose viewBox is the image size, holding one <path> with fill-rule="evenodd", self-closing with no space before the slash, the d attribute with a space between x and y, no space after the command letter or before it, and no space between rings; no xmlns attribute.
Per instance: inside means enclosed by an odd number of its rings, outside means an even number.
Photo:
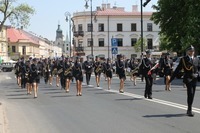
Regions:
<svg viewBox="0 0 200 133"><path fill-rule="evenodd" d="M157 1L151 0L143 10L153 11L151 7ZM69 24L65 21L65 12L69 12L73 16L74 12L90 10L90 8L85 9L85 0L17 0L17 2L27 3L36 11L31 17L30 26L25 30L52 41L55 41L58 24L61 25L64 37L66 36ZM132 5L140 5L140 0L92 0L93 10L102 3L110 3L111 7L114 5L125 7L126 11L131 11Z"/></svg>

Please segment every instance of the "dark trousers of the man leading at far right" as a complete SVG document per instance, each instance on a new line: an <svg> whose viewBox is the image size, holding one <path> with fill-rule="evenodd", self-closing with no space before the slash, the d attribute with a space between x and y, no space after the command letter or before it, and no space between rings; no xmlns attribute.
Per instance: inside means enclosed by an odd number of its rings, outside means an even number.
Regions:
<svg viewBox="0 0 200 133"><path fill-rule="evenodd" d="M192 111L192 104L193 104L194 95L195 95L195 91L196 91L196 81L187 83L186 87L187 87L188 111Z"/></svg>

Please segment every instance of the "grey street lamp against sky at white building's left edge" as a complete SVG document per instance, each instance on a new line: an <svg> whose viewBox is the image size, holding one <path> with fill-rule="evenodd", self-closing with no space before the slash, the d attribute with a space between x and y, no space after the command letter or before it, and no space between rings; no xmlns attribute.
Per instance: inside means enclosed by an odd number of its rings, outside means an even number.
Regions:
<svg viewBox="0 0 200 133"><path fill-rule="evenodd" d="M71 25L71 14L69 12L65 12L65 20L69 22L69 57L71 57L71 32L72 32L72 25Z"/></svg>

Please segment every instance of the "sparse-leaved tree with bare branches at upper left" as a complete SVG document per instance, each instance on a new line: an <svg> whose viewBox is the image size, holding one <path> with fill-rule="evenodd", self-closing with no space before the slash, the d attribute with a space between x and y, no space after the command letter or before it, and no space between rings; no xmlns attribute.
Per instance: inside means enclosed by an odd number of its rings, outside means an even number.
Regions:
<svg viewBox="0 0 200 133"><path fill-rule="evenodd" d="M29 25L31 15L34 13L34 8L26 3L18 4L17 0L1 0L0 15L2 15L2 20L0 31L8 19L13 26L26 28Z"/></svg>

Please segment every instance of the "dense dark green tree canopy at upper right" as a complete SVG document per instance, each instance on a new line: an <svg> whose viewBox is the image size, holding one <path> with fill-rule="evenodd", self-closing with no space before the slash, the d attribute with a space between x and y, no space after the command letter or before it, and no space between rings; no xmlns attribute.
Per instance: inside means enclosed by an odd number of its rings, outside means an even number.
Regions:
<svg viewBox="0 0 200 133"><path fill-rule="evenodd" d="M183 53L189 45L200 52L200 0L158 0L152 20L160 25L161 49Z"/></svg>

